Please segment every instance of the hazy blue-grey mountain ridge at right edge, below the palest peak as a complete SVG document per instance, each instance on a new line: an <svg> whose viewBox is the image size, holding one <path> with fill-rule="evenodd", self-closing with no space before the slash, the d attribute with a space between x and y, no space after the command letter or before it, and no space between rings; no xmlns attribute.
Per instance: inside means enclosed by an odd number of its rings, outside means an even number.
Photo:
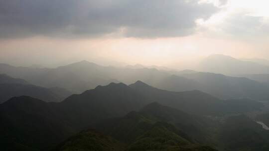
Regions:
<svg viewBox="0 0 269 151"><path fill-rule="evenodd" d="M200 83L200 86L195 87L198 87L198 90L219 98L269 100L269 85L246 77L232 77L212 73L196 73L182 76ZM172 88L169 90L176 90L176 87Z"/></svg>

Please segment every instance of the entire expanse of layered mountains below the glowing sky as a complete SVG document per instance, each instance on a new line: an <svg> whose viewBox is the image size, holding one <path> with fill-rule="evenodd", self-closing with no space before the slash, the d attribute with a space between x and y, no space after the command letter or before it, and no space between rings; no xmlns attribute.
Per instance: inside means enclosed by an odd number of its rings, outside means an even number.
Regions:
<svg viewBox="0 0 269 151"><path fill-rule="evenodd" d="M247 72L243 61L212 57ZM87 61L54 69L0 64L0 73L3 151L269 149L269 131L256 122L269 123L263 80Z"/></svg>

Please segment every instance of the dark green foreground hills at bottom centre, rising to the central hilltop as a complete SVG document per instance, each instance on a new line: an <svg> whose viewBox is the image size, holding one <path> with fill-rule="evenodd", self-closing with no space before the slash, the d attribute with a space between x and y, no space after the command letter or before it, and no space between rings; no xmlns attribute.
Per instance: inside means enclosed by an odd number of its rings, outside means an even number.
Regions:
<svg viewBox="0 0 269 151"><path fill-rule="evenodd" d="M170 113L171 117L177 116L177 120L185 119L181 122L194 121L187 119L191 116L184 117L188 115L184 112L151 103L139 112L133 111L124 117L105 120L95 125L103 134L93 130L82 131L61 143L55 151L90 151L96 148L98 151L215 151L193 142L182 130L164 122L164 118L154 114L158 111L163 111L158 113L160 116ZM167 117L170 115L167 114ZM98 146L93 147L93 144ZM109 149L105 149L106 147Z"/></svg>

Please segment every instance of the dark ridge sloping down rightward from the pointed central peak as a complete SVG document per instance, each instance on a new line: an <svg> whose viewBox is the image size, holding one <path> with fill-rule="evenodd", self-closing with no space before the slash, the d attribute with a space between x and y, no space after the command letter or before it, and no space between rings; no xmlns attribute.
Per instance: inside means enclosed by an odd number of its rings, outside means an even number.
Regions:
<svg viewBox="0 0 269 151"><path fill-rule="evenodd" d="M234 101L220 100L198 90L183 92L161 90L149 86L141 81L131 84L130 87L140 92L143 96L146 96L149 100L154 100L160 104L191 114L221 115L228 112L235 113L256 110L263 106L261 103L248 99ZM238 103L238 101L245 101L245 103ZM238 106L238 104L241 104L241 106ZM234 106L237 106L238 108L234 108Z"/></svg>

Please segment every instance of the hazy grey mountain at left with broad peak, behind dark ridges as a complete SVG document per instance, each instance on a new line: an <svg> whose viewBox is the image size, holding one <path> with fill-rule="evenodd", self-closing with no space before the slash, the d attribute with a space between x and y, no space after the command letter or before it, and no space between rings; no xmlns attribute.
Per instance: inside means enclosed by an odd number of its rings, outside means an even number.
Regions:
<svg viewBox="0 0 269 151"><path fill-rule="evenodd" d="M42 87L63 87L74 93L81 93L99 84L118 82L99 70L104 67L82 61L56 69L35 69L28 67L13 67L0 64L0 73L26 79L32 84Z"/></svg>

